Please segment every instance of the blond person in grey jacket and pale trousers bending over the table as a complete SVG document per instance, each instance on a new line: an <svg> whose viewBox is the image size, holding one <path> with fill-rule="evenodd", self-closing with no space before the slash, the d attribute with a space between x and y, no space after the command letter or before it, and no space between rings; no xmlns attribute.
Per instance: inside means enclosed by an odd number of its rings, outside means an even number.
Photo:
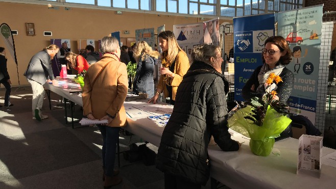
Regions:
<svg viewBox="0 0 336 189"><path fill-rule="evenodd" d="M57 45L49 45L43 48L43 50L37 52L30 60L27 70L23 74L27 77L27 80L33 90L33 119L39 121L41 121L41 119L48 118L48 116L41 113L45 94L43 84L45 84L48 79L49 83L52 82L54 86L58 86L58 82L54 77L52 64L50 62L50 58L54 57L58 50L59 47Z"/></svg>

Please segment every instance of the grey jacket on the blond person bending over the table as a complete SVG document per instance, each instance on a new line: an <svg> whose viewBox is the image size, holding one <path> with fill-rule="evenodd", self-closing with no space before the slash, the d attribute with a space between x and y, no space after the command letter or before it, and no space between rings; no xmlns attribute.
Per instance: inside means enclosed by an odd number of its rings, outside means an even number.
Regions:
<svg viewBox="0 0 336 189"><path fill-rule="evenodd" d="M26 72L23 74L27 78L43 85L48 77L54 80L54 73L50 62L50 55L46 50L37 52L30 60Z"/></svg>

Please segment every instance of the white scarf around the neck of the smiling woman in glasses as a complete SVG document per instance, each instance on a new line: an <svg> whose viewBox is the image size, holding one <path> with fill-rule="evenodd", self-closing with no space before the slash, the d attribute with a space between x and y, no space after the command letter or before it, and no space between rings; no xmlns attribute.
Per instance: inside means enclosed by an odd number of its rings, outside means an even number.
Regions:
<svg viewBox="0 0 336 189"><path fill-rule="evenodd" d="M259 81L259 86L256 90L256 92L258 93L265 93L266 89L265 89L265 82L267 77L269 76L270 73L274 73L276 75L280 75L280 73L282 72L282 69L284 68L284 65L278 64L277 66L275 66L275 68L270 69L270 67L268 66L268 64L264 63L260 69L260 72L258 74L258 81ZM274 89L276 90L276 89Z"/></svg>

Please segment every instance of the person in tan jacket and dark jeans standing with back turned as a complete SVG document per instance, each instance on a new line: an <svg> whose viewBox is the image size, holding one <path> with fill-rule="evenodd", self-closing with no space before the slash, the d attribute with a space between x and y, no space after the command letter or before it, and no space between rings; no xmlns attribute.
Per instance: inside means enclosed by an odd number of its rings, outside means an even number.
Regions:
<svg viewBox="0 0 336 189"><path fill-rule="evenodd" d="M84 77L83 112L88 119L107 119L98 125L103 136L104 188L117 185L122 178L114 171L115 149L119 130L126 125L124 101L127 95L126 65L119 61L120 46L115 37L101 42L103 57L91 65Z"/></svg>

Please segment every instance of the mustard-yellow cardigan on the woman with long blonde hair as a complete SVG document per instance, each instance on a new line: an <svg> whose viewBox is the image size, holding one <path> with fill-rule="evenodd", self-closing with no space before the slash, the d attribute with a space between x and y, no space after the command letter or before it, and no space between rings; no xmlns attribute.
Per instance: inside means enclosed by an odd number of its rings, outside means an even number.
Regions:
<svg viewBox="0 0 336 189"><path fill-rule="evenodd" d="M183 75L188 71L190 65L189 65L189 59L187 54L184 51L179 51L179 53L176 56L175 61L175 67L174 67L174 79L172 80L172 98L175 100L177 87L180 85L183 79ZM163 83L163 75L160 76L159 82L157 84L157 88L163 90L164 97L169 97L169 92L167 90L167 87Z"/></svg>

